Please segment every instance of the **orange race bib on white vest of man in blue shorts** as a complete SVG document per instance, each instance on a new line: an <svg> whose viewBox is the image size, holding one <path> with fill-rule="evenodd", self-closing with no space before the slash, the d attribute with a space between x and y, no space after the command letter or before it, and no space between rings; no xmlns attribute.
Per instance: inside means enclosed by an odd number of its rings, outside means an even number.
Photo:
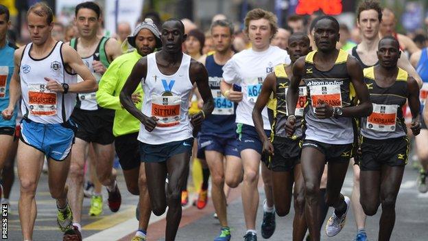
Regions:
<svg viewBox="0 0 428 241"><path fill-rule="evenodd" d="M32 115L56 115L56 93L46 89L46 84L29 84L28 104Z"/></svg>

